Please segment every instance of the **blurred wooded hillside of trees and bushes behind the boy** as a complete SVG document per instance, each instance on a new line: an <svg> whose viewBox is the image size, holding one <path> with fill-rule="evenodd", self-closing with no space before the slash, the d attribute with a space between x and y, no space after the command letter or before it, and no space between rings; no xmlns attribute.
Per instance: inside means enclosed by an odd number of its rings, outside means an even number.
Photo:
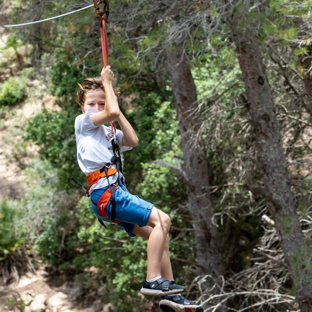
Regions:
<svg viewBox="0 0 312 312"><path fill-rule="evenodd" d="M0 1L0 24L90 4ZM174 276L205 311L312 311L310 8L110 1L109 65L139 137L127 187L171 217ZM92 7L0 27L0 311L159 311L139 293L147 241L102 227L71 181L86 186L77 82L102 67Z"/></svg>

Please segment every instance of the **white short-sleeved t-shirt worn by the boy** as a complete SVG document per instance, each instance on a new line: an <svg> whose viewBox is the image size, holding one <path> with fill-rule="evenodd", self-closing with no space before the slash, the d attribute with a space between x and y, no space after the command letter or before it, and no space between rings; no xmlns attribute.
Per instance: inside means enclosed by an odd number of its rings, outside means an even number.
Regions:
<svg viewBox="0 0 312 312"><path fill-rule="evenodd" d="M95 126L90 119L90 115L98 113L99 110L89 108L85 114L76 117L75 135L77 144L77 160L80 169L88 175L89 173L101 169L106 163L110 162L114 156L111 144L111 129L105 125ZM122 131L116 132L117 141L122 152L132 149L132 147L122 146ZM116 168L112 165L111 168ZM109 177L110 183L117 180L118 173ZM120 178L122 174L120 174ZM107 178L101 178L90 188L90 193L98 188L104 188L108 185Z"/></svg>

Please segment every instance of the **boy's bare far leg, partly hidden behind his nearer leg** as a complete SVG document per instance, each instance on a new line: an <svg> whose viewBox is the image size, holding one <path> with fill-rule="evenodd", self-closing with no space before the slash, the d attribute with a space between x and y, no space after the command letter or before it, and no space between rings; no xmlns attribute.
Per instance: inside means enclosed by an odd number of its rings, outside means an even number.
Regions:
<svg viewBox="0 0 312 312"><path fill-rule="evenodd" d="M134 227L134 234L138 235L146 240L149 239L149 236L152 232L153 228L146 226L146 227L139 227L136 225ZM171 261L169 256L169 235L167 234L166 238L166 245L163 251L163 257L161 259L161 267L160 267L160 273L163 278L166 280L173 280L173 273L171 268Z"/></svg>

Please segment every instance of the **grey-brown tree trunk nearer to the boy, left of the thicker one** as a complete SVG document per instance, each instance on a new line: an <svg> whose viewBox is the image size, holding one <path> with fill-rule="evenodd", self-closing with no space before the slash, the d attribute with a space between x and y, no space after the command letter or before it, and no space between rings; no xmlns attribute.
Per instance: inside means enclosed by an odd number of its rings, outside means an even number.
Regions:
<svg viewBox="0 0 312 312"><path fill-rule="evenodd" d="M212 224L212 202L205 188L209 186L208 162L200 142L194 142L194 133L198 129L195 84L181 46L168 48L167 60L172 77L174 105L178 111L184 171L188 180L188 209L196 230L197 261L204 268L202 274L210 274L217 278L224 275L224 266L221 242L217 238L217 228Z"/></svg>

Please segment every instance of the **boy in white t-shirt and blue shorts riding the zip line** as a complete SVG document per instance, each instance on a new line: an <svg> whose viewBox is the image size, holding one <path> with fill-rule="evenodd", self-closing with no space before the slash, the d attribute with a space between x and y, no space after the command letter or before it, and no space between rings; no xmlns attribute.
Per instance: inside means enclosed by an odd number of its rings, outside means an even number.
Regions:
<svg viewBox="0 0 312 312"><path fill-rule="evenodd" d="M89 186L92 209L100 220L106 222L111 221L114 211L113 221L116 219L119 227L124 228L129 236L138 235L148 240L147 276L141 283L140 290L143 295L164 295L160 302L163 311L173 311L168 310L170 307L169 309L173 308L174 311L201 312L202 307L175 295L181 293L185 287L175 284L173 280L169 257L170 217L153 204L130 194L120 182L115 190L115 209L110 201L105 207L98 205L105 191L110 190L110 185L114 185L118 180L119 174L114 169L115 164L111 163L113 135L110 128L104 124L114 119L118 120L121 131L117 130L116 137L121 151L130 150L138 144L134 129L119 110L119 90L114 90L113 81L114 74L110 66L107 66L103 68L101 77L86 78L81 85L79 84L80 90L77 92L82 111L75 120L79 166L88 176L105 166L111 170L110 175ZM122 173L119 177L122 178Z"/></svg>

